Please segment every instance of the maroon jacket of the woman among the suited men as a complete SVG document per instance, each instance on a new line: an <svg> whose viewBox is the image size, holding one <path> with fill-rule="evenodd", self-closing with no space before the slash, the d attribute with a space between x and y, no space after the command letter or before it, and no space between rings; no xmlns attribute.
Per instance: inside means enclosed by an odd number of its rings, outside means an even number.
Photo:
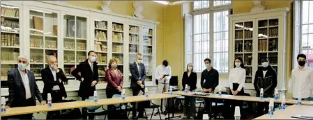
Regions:
<svg viewBox="0 0 313 120"><path fill-rule="evenodd" d="M123 87L122 73L119 69L117 69L117 76L113 69L107 69L107 71L105 71L105 75L105 79L107 79L107 87Z"/></svg>

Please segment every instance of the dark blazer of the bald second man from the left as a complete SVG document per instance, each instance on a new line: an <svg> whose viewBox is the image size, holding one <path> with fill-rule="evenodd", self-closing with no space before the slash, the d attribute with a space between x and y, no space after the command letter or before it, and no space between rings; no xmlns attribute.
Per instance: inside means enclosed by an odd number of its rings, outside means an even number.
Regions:
<svg viewBox="0 0 313 120"><path fill-rule="evenodd" d="M64 75L62 69L59 69L59 72L56 73L56 81L54 81L52 71L49 67L41 70L41 78L43 78L43 83L45 83L43 87L44 100L47 100L47 94L52 92L52 88L54 87L54 85L59 85L61 96L64 96L65 98L68 97L68 95L66 94L66 89L63 85L63 82L67 81L68 78L66 78L66 75ZM61 83L59 82L59 79L62 80Z"/></svg>

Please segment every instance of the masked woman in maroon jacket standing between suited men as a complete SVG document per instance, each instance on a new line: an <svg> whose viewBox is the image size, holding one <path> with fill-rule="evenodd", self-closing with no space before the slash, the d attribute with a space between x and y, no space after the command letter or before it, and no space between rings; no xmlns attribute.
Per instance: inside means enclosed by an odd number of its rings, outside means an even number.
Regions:
<svg viewBox="0 0 313 120"><path fill-rule="evenodd" d="M105 79L107 80L107 88L105 92L107 94L107 98L112 98L114 94L121 94L122 87L123 87L123 76L122 72L117 69L117 61L116 59L109 60L109 69L105 71ZM114 105L107 105L107 110L109 112L108 119L115 119L114 112L115 108Z"/></svg>

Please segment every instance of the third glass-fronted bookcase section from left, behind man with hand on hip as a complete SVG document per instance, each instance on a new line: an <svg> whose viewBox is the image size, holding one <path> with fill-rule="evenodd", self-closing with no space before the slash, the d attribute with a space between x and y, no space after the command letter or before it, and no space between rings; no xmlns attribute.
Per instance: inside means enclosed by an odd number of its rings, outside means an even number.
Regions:
<svg viewBox="0 0 313 120"><path fill-rule="evenodd" d="M70 72L87 58L87 18L63 15L63 69L68 78Z"/></svg>

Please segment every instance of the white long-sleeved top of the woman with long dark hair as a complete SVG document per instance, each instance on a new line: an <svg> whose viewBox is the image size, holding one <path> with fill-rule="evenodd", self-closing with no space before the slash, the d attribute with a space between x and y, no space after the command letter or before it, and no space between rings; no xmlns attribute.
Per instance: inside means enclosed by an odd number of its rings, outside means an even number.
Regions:
<svg viewBox="0 0 313 120"><path fill-rule="evenodd" d="M238 83L238 91L241 91L243 87L245 87L245 69L241 67L236 67L231 69L229 72L229 87L233 89L233 83Z"/></svg>

